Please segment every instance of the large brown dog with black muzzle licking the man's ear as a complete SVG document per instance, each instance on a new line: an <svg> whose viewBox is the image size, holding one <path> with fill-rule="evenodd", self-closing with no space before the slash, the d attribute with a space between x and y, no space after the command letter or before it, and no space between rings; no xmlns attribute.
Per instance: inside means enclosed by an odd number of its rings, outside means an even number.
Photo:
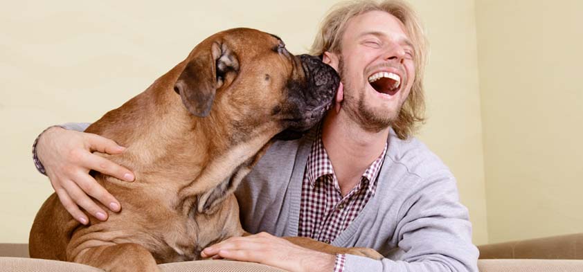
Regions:
<svg viewBox="0 0 583 272"><path fill-rule="evenodd" d="M234 28L204 39L186 60L86 130L127 147L123 154L100 155L132 169L133 183L91 172L123 210L107 221L90 217L84 226L52 194L30 230L30 257L106 271L159 271L156 264L199 260L206 246L245 234L235 188L273 139L298 138L323 118L338 86L332 67L292 55L276 35Z"/></svg>

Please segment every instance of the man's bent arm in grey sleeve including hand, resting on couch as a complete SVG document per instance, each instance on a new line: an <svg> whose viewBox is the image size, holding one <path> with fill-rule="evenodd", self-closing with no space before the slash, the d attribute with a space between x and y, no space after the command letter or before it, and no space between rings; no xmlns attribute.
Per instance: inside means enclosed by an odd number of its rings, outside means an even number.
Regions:
<svg viewBox="0 0 583 272"><path fill-rule="evenodd" d="M448 171L428 180L403 203L399 212L393 239L397 240L402 255L395 256L395 260L356 255L334 258L296 248L284 239L264 233L227 239L204 249L203 256L259 262L289 271L478 271L472 226L467 208L458 200L454 177ZM305 258L307 255L312 257Z"/></svg>

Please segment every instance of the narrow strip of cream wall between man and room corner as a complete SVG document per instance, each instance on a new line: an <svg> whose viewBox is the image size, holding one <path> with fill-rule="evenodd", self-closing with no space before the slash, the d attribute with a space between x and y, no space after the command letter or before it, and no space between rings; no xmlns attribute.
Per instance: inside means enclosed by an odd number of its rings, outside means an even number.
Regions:
<svg viewBox="0 0 583 272"><path fill-rule="evenodd" d="M425 76L427 124L420 138L451 168L469 209L474 243L488 241L474 1L411 1L431 54Z"/></svg>

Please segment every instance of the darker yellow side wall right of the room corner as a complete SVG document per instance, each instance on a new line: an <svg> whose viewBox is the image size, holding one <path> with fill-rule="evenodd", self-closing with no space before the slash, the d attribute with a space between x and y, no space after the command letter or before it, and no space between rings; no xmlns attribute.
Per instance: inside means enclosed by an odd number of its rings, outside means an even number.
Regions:
<svg viewBox="0 0 583 272"><path fill-rule="evenodd" d="M476 6L490 242L581 232L583 2Z"/></svg>

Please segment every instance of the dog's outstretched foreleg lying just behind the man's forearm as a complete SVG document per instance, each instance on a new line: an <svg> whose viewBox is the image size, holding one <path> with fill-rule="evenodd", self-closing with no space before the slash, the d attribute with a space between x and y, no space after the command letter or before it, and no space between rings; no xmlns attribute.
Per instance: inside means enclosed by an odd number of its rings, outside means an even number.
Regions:
<svg viewBox="0 0 583 272"><path fill-rule="evenodd" d="M323 242L318 242L308 237L283 237L283 239L286 239L287 241L292 242L298 246L302 246L304 248L310 248L314 251L320 251L332 255L336 254L359 255L363 257L369 257L375 260L381 260L384 257L383 255L381 255L381 253L378 253L372 248L341 248Z"/></svg>

